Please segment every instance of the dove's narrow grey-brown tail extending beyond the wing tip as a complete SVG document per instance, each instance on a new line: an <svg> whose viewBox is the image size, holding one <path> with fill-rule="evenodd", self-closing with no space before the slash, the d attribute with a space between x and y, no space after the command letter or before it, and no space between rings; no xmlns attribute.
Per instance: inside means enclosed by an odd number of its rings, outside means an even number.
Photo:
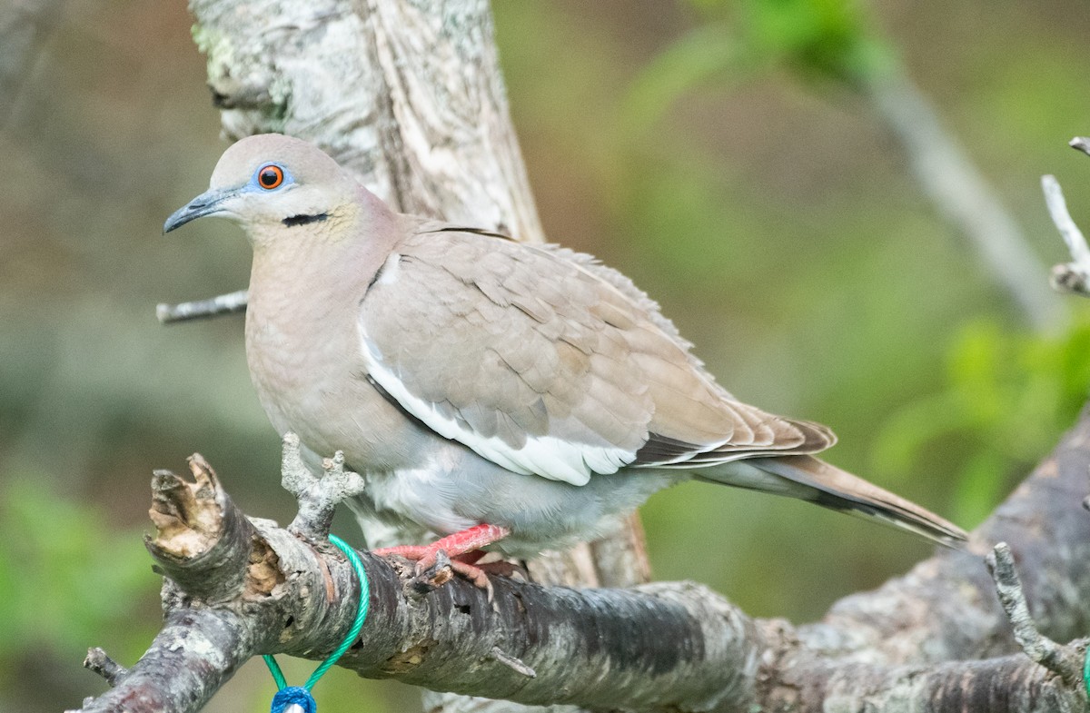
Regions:
<svg viewBox="0 0 1090 713"><path fill-rule="evenodd" d="M915 532L946 547L960 548L968 535L929 512L813 456L748 458L700 471L705 480L788 497L871 518Z"/></svg>

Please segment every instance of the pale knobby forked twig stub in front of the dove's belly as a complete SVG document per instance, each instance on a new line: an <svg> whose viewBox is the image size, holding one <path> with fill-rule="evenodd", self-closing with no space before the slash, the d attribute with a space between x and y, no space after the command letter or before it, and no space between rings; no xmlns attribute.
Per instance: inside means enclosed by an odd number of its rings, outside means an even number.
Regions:
<svg viewBox="0 0 1090 713"><path fill-rule="evenodd" d="M344 470L344 454L339 450L323 459L322 470L323 476L315 478L303 460L299 436L291 432L283 435L280 484L299 500L299 512L288 530L316 541L329 536L337 505L366 487L359 473Z"/></svg>

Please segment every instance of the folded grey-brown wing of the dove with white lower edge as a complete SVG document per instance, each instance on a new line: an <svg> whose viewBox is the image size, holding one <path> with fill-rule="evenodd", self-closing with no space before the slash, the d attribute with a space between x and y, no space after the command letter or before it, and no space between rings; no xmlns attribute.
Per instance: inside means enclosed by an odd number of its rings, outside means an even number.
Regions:
<svg viewBox="0 0 1090 713"><path fill-rule="evenodd" d="M626 466L813 452L823 426L734 400L657 305L555 246L452 228L408 234L361 301L367 376L439 435L574 485Z"/></svg>

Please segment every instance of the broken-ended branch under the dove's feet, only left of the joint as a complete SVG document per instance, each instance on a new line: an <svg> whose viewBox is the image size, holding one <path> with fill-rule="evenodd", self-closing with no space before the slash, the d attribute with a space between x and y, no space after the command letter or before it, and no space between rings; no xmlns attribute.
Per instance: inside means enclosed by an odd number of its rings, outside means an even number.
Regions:
<svg viewBox="0 0 1090 713"><path fill-rule="evenodd" d="M154 481L148 549L169 577L167 625L83 711L199 710L250 656L320 658L354 616L359 582L336 549L247 520L199 456L191 470L192 483ZM693 584L574 591L497 578L489 604L460 580L422 597L411 567L361 557L371 618L341 665L363 676L526 703L704 710L755 669L752 624Z"/></svg>

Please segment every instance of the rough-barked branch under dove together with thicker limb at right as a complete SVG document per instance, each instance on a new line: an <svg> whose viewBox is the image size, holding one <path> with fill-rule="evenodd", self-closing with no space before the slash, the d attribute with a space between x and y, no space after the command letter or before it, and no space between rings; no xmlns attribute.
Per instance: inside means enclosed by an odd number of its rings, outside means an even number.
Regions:
<svg viewBox="0 0 1090 713"><path fill-rule="evenodd" d="M329 493L315 485L325 480L296 488L312 501L291 531L246 519L199 457L194 483L157 473L148 549L168 577L167 624L132 669L96 665L114 688L82 710L192 712L251 655L324 657L360 591L324 542L329 494L346 492L338 466L329 463ZM1053 637L1083 633L1088 469L1090 413L972 533L968 552L944 551L801 627L750 618L685 582L571 590L495 578L489 603L456 579L422 594L410 567L362 553L372 614L340 665L433 689L595 710L1082 711L1086 641L1043 649L1038 641L1037 653L1024 642L1046 666L1019 653L981 554L995 540L1010 543L1024 583L1009 571L997 579L1004 599L1016 601L1008 611L1026 596L1025 613L1013 617L1022 636L1026 613Z"/></svg>

